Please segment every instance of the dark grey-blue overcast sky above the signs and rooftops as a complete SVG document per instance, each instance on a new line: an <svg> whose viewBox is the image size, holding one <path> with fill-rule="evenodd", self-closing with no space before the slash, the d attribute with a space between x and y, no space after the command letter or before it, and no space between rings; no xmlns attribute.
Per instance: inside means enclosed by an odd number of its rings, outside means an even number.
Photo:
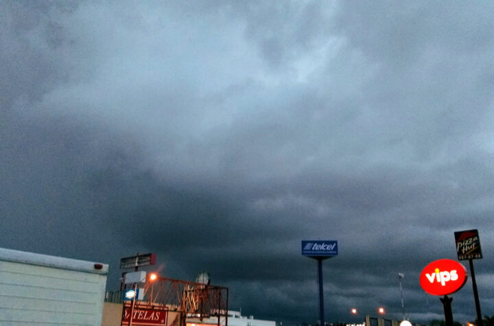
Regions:
<svg viewBox="0 0 494 326"><path fill-rule="evenodd" d="M493 31L493 1L0 0L0 246L102 261L110 290L154 252L298 325L301 240L338 240L328 321L400 318L403 272L427 322L421 270L479 229L492 316ZM452 296L473 321L471 281Z"/></svg>

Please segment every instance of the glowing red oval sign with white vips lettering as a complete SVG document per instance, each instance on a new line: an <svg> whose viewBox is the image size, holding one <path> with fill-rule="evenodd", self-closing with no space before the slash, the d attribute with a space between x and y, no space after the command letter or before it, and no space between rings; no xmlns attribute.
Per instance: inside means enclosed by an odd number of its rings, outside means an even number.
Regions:
<svg viewBox="0 0 494 326"><path fill-rule="evenodd" d="M432 261L421 272L420 283L425 292L432 295L454 293L467 283L467 269L458 261L439 259Z"/></svg>

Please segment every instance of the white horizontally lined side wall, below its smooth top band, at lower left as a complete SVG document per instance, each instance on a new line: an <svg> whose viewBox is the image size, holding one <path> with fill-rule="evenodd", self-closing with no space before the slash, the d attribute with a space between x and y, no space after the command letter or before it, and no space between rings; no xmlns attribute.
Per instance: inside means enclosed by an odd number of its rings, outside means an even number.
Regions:
<svg viewBox="0 0 494 326"><path fill-rule="evenodd" d="M103 274L0 259L0 325L101 325L105 286Z"/></svg>

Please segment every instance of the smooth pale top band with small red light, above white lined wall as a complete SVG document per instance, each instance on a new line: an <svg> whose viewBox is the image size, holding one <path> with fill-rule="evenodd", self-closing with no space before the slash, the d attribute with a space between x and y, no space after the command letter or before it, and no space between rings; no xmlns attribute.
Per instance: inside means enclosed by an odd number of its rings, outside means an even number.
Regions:
<svg viewBox="0 0 494 326"><path fill-rule="evenodd" d="M108 274L108 264L84 261L78 259L64 258L58 256L42 255L39 253L29 253L27 251L16 251L12 249L0 248L0 260L14 261L16 263L46 266L51 268L62 268L65 270L78 270L80 272L91 272L94 274ZM102 268L96 269L96 265Z"/></svg>

